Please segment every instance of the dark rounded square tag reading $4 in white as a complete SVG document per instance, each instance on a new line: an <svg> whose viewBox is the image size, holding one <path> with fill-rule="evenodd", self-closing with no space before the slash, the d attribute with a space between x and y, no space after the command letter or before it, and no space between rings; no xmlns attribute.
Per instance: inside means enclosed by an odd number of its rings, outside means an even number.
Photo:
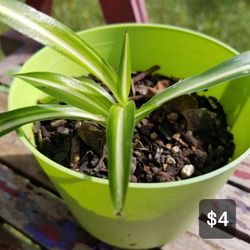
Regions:
<svg viewBox="0 0 250 250"><path fill-rule="evenodd" d="M236 233L236 204L231 199L200 202L199 234L205 239L230 239Z"/></svg>

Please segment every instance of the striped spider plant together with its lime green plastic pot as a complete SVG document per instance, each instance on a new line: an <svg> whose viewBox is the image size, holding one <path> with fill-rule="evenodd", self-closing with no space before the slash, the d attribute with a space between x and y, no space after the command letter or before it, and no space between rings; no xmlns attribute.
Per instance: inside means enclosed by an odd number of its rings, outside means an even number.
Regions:
<svg viewBox="0 0 250 250"><path fill-rule="evenodd" d="M248 52L236 55L236 51L215 39L162 25L106 26L76 35L52 18L13 0L0 1L0 20L54 49L42 49L17 75L9 99L12 110L0 114L0 135L17 129L79 223L95 237L124 248L165 244L190 226L198 217L199 201L213 197L247 156L249 78L231 80L250 74ZM163 73L186 79L136 110L128 100L130 46L132 69L157 63ZM102 80L113 95L93 82L70 77L88 72ZM225 83L206 94L220 99L227 112L236 143L233 160L192 179L129 183L135 124L174 97L221 82ZM68 105L36 105L42 91ZM67 169L35 148L30 123L58 117L91 119L107 128L109 182Z"/></svg>

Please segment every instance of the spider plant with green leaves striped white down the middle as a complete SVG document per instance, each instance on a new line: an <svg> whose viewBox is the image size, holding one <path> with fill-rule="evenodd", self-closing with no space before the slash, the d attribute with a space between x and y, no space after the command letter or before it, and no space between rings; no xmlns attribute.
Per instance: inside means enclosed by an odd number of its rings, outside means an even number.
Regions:
<svg viewBox="0 0 250 250"><path fill-rule="evenodd" d="M111 65L76 33L23 3L0 0L0 20L87 69L112 93L109 94L101 85L87 78L76 79L50 72L17 74L17 78L67 105L40 104L1 113L0 136L27 123L58 118L93 120L105 126L110 194L114 211L118 215L124 208L129 184L135 125L175 97L208 89L224 81L250 74L250 52L245 52L200 75L178 82L136 109L135 103L129 100L129 31L124 35L119 70L116 73Z"/></svg>

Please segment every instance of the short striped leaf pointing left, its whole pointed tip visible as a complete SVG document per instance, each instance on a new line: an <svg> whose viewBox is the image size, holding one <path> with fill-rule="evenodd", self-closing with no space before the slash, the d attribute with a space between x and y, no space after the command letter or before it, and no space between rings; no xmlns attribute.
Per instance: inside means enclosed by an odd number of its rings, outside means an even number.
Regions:
<svg viewBox="0 0 250 250"><path fill-rule="evenodd" d="M49 72L24 73L16 77L59 101L95 114L107 116L113 104L112 99L107 98L108 93L95 82L87 80L80 82L71 77Z"/></svg>

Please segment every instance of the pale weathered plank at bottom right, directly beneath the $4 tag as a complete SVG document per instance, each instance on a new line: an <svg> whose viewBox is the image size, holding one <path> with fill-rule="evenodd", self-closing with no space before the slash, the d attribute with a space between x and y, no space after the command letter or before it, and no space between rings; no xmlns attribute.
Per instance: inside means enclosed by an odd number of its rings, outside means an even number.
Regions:
<svg viewBox="0 0 250 250"><path fill-rule="evenodd" d="M249 244L237 238L202 239L199 236L198 221L185 234L162 247L162 250L249 250Z"/></svg>

